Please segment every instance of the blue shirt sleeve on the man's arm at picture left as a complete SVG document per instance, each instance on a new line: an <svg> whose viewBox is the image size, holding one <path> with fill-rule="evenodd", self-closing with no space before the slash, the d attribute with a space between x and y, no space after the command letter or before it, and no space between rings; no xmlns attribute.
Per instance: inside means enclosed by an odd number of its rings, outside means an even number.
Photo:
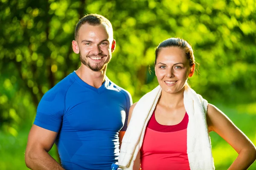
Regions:
<svg viewBox="0 0 256 170"><path fill-rule="evenodd" d="M49 90L39 102L34 125L58 132L64 115L64 95Z"/></svg>

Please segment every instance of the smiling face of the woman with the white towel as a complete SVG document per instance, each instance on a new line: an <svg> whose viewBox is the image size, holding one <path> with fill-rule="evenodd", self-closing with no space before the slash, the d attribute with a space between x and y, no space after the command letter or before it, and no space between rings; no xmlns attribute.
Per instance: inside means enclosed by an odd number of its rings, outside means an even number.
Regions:
<svg viewBox="0 0 256 170"><path fill-rule="evenodd" d="M155 65L155 73L162 90L177 93L183 90L188 77L194 74L195 64L190 67L185 52L179 47L160 49Z"/></svg>

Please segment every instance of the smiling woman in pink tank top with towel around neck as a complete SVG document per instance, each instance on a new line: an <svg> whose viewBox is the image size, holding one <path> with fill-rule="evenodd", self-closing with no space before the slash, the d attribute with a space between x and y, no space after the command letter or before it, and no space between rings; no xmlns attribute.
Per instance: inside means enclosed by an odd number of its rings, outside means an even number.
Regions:
<svg viewBox="0 0 256 170"><path fill-rule="evenodd" d="M191 46L170 38L155 51L159 86L129 111L119 167L139 170L214 170L209 132L215 131L239 156L229 170L256 159L253 143L214 105L187 84L195 71Z"/></svg>

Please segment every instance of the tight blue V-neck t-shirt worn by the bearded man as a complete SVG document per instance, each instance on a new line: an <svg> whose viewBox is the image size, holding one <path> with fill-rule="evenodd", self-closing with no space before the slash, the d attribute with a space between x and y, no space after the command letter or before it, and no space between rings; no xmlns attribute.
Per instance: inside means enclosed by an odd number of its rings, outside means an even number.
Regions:
<svg viewBox="0 0 256 170"><path fill-rule="evenodd" d="M108 77L100 88L74 71L41 99L34 124L58 132L55 141L66 170L109 170L119 156L131 95Z"/></svg>

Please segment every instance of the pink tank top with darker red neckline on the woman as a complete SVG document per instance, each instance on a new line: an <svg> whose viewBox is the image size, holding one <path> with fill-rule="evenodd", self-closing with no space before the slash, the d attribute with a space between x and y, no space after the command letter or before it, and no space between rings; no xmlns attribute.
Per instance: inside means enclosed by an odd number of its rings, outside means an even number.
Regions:
<svg viewBox="0 0 256 170"><path fill-rule="evenodd" d="M140 149L141 170L190 170L186 140L188 122L186 113L177 125L160 125L153 112Z"/></svg>

